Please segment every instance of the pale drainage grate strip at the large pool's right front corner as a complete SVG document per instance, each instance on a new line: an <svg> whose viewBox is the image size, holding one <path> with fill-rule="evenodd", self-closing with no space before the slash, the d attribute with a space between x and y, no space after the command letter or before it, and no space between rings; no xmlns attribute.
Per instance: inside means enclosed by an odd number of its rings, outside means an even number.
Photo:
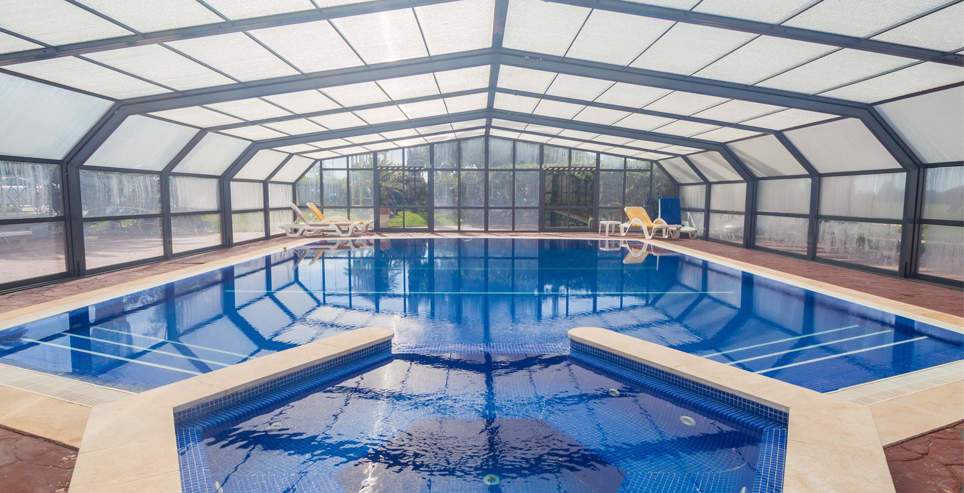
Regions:
<svg viewBox="0 0 964 493"><path fill-rule="evenodd" d="M870 405L964 379L964 361L952 361L909 374L890 376L852 387L827 392L827 395L858 404Z"/></svg>

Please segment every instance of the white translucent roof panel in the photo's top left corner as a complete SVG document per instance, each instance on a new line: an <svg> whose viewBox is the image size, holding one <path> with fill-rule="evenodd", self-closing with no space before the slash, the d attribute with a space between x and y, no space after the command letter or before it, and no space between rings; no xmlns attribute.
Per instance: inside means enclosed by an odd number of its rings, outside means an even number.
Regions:
<svg viewBox="0 0 964 493"><path fill-rule="evenodd" d="M4 2L0 27L53 45L134 34L61 0Z"/></svg>

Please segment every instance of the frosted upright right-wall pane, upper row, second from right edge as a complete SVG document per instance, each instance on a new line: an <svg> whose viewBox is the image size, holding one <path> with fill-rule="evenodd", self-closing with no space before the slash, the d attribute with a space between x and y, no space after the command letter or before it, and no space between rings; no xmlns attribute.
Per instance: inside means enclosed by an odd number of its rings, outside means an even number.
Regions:
<svg viewBox="0 0 964 493"><path fill-rule="evenodd" d="M904 173L826 176L820 179L820 216L900 219Z"/></svg>

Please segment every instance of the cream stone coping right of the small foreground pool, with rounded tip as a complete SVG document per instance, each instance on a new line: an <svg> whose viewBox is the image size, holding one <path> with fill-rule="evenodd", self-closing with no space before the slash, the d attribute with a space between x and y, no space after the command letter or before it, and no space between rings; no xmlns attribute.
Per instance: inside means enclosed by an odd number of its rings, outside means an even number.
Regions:
<svg viewBox="0 0 964 493"><path fill-rule="evenodd" d="M893 492L870 408L600 327L571 341L788 413L785 493Z"/></svg>

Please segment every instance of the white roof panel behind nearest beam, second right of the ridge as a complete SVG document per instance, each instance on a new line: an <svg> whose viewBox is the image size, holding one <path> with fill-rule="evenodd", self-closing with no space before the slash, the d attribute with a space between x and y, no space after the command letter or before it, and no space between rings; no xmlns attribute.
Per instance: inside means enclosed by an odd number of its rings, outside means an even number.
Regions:
<svg viewBox="0 0 964 493"><path fill-rule="evenodd" d="M672 25L670 20L596 10L586 19L566 57L629 65Z"/></svg>

